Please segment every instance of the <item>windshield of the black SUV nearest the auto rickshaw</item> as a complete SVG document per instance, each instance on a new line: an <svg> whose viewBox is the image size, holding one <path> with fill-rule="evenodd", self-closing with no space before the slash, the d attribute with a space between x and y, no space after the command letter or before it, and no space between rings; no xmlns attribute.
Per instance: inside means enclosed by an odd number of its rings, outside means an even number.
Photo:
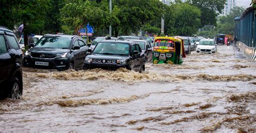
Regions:
<svg viewBox="0 0 256 133"><path fill-rule="evenodd" d="M93 50L93 54L103 55L129 55L129 45L118 42L99 42Z"/></svg>

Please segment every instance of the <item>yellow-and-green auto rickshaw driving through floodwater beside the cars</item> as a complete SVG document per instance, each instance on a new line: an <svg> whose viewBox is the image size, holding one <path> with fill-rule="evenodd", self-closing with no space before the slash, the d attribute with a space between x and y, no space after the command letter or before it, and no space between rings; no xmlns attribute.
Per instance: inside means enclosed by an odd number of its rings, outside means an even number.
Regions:
<svg viewBox="0 0 256 133"><path fill-rule="evenodd" d="M153 64L182 64L182 57L186 57L183 39L164 36L154 39Z"/></svg>

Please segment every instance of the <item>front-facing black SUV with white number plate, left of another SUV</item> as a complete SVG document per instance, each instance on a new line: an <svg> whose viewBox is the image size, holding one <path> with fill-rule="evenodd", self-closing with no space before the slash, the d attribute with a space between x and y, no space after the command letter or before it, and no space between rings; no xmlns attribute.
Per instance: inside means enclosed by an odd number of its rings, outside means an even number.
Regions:
<svg viewBox="0 0 256 133"><path fill-rule="evenodd" d="M88 48L80 36L46 34L26 51L23 65L41 69L83 69Z"/></svg>

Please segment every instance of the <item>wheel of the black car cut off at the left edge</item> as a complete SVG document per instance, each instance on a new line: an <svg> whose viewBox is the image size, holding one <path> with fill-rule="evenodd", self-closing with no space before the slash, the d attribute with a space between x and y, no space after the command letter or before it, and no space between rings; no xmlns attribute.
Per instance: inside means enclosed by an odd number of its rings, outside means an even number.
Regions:
<svg viewBox="0 0 256 133"><path fill-rule="evenodd" d="M11 82L11 93L10 98L11 99L21 99L22 97L22 86L21 82L19 82L19 79L17 77L14 77L14 79Z"/></svg>

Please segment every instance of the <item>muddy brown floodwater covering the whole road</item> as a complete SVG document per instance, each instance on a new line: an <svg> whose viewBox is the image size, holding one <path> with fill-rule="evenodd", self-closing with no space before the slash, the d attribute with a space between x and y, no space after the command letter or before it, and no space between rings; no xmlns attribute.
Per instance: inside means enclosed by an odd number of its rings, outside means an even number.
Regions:
<svg viewBox="0 0 256 133"><path fill-rule="evenodd" d="M24 68L23 98L0 101L0 132L256 132L255 70L233 46L143 73Z"/></svg>

